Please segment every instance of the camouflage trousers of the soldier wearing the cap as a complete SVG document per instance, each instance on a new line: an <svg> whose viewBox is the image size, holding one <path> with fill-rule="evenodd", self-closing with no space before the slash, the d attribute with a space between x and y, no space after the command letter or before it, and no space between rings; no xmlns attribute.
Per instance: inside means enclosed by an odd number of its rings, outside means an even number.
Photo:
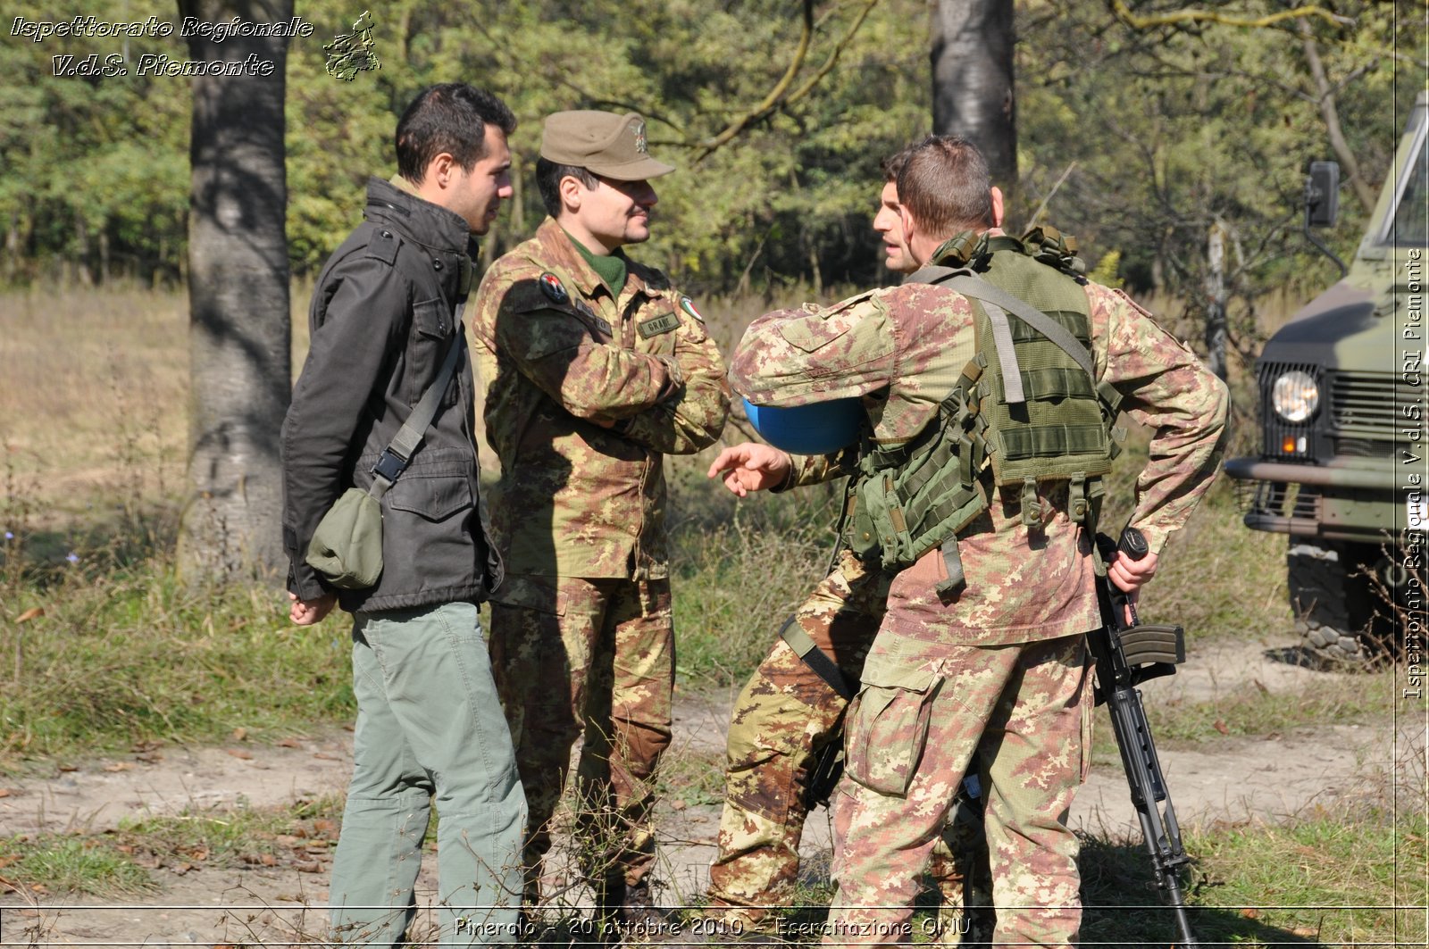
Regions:
<svg viewBox="0 0 1429 949"><path fill-rule="evenodd" d="M492 603L492 672L516 745L539 898L570 749L576 856L593 882L639 882L654 862L654 769L670 745L674 629L669 580L507 576Z"/></svg>

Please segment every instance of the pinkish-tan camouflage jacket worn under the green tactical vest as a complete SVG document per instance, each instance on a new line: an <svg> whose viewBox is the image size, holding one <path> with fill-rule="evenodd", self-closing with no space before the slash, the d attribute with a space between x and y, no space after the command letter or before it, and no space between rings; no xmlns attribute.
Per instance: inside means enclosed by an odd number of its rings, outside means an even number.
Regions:
<svg viewBox="0 0 1429 949"><path fill-rule="evenodd" d="M1136 482L1132 525L1159 552L1209 489L1225 439L1229 397L1200 360L1120 290L1087 283L1099 380L1153 430ZM896 444L936 413L975 353L970 302L945 287L903 284L832 307L767 313L745 333L730 372L750 402L797 406L862 396L873 439ZM795 459L795 483L846 473L833 459ZM900 573L885 630L912 640L999 645L1067 636L1099 623L1089 547L1067 515L1065 483L1040 490L1040 523L1022 525L1020 489L959 532L967 587L952 603L933 592L943 559L930 552Z"/></svg>

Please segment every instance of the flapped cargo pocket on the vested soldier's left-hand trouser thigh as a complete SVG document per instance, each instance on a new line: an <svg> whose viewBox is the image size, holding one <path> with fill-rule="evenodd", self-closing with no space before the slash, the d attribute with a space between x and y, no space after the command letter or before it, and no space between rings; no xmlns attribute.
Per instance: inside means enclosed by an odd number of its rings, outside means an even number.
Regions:
<svg viewBox="0 0 1429 949"><path fill-rule="evenodd" d="M933 697L943 680L880 659L865 666L863 689L849 706L845 769L869 790L902 798L923 759Z"/></svg>

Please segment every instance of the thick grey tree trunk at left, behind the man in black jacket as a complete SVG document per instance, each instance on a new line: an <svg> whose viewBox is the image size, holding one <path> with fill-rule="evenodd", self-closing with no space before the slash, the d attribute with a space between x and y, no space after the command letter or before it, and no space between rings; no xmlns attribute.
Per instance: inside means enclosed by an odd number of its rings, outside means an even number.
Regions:
<svg viewBox="0 0 1429 949"><path fill-rule="evenodd" d="M206 23L269 23L292 0L180 0ZM179 566L189 580L270 575L283 562L279 429L290 393L286 37L189 37L201 61L272 63L269 74L193 80L189 214L189 499ZM247 57L253 56L254 60ZM266 69L266 66L260 66Z"/></svg>

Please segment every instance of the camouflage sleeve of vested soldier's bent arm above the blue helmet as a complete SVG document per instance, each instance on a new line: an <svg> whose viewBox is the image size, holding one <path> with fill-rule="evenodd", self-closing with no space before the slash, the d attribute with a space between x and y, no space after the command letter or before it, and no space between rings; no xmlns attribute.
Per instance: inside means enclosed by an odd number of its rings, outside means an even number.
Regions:
<svg viewBox="0 0 1429 949"><path fill-rule="evenodd" d="M897 370L889 312L876 293L833 307L766 313L735 347L730 382L759 406L802 406L862 396Z"/></svg>

